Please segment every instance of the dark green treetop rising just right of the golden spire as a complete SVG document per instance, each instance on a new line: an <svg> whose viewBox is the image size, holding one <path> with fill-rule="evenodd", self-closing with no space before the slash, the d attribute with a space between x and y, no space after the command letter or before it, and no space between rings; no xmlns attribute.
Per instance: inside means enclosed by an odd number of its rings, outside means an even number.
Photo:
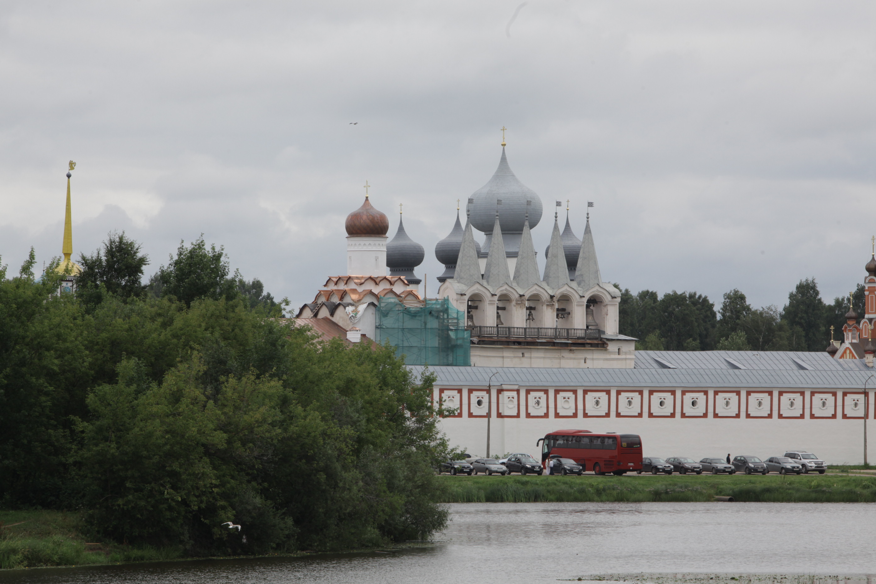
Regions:
<svg viewBox="0 0 876 584"><path fill-rule="evenodd" d="M149 257L140 253L140 243L122 233L111 232L90 256L81 254L82 273L76 278L76 293L89 306L102 301L104 293L121 299L140 298L145 293L143 268Z"/></svg>

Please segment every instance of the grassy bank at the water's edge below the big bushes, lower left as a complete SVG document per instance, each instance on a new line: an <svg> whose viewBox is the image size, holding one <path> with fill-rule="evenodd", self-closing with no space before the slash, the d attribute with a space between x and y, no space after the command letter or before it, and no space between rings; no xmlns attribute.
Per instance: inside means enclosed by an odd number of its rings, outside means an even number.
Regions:
<svg viewBox="0 0 876 584"><path fill-rule="evenodd" d="M89 540L79 525L76 513L0 510L0 569L155 561L181 555L181 550L174 548Z"/></svg>

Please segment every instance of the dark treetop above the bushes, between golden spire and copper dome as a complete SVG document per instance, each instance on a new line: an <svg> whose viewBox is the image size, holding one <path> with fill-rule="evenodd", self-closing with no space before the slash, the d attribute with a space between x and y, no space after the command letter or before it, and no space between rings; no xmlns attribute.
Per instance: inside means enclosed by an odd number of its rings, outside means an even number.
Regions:
<svg viewBox="0 0 876 584"><path fill-rule="evenodd" d="M237 295L237 281L228 275L225 249L216 250L215 244L208 249L201 234L188 247L180 241L176 257L171 256L167 266L159 268L160 293L172 295L186 306L199 298L231 299Z"/></svg>

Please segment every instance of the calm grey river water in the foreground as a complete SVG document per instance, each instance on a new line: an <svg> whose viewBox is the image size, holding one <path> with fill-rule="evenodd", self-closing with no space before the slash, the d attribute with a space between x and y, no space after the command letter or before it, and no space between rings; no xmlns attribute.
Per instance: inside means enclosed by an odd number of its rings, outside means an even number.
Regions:
<svg viewBox="0 0 876 584"><path fill-rule="evenodd" d="M598 573L876 573L876 503L460 503L434 545L46 568L40 584L523 584Z"/></svg>

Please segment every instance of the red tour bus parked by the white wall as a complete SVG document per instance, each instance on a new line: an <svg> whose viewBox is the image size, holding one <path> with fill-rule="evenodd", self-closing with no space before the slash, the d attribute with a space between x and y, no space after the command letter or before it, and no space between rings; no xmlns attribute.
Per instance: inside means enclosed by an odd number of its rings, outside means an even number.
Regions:
<svg viewBox="0 0 876 584"><path fill-rule="evenodd" d="M642 440L637 434L557 430L540 438L535 446L541 441L544 441L541 447L541 466L545 470L548 469L551 455L570 458L584 470L592 470L597 475L623 475L642 468Z"/></svg>

